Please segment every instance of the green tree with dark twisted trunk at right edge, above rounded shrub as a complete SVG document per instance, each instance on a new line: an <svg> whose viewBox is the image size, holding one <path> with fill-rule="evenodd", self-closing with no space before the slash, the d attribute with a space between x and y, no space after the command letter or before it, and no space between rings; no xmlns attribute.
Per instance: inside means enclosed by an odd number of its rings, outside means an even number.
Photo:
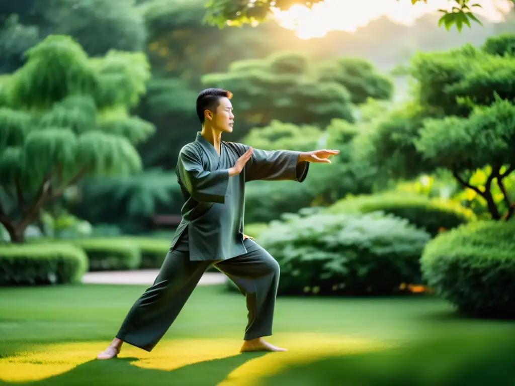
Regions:
<svg viewBox="0 0 515 386"><path fill-rule="evenodd" d="M426 120L415 146L424 159L451 170L462 185L482 197L493 219L503 214L511 217L513 207L503 183L515 169L515 106L511 102L496 100L491 106L477 107L468 118ZM476 173L470 179L472 173L486 168L487 175Z"/></svg>

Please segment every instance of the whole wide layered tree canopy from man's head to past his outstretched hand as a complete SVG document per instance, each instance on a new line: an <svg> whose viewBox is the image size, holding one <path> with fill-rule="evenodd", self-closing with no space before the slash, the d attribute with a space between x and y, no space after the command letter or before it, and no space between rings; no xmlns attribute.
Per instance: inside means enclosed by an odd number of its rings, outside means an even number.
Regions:
<svg viewBox="0 0 515 386"><path fill-rule="evenodd" d="M388 99L393 89L391 80L365 60L319 63L296 52L233 62L227 73L205 75L202 81L204 87L234 94L238 130L243 133L272 119L319 127L332 119L353 122L353 103L368 97Z"/></svg>

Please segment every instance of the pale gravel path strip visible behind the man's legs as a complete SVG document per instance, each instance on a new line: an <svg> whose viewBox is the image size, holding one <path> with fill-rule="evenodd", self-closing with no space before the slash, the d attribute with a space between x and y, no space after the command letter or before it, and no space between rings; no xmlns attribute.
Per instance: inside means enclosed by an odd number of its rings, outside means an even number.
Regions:
<svg viewBox="0 0 515 386"><path fill-rule="evenodd" d="M151 285L159 270L138 270L138 271L108 271L108 272L87 272L82 276L82 283L87 284L134 284ZM199 282L199 286L222 284L227 280L226 275L217 272L206 272Z"/></svg>

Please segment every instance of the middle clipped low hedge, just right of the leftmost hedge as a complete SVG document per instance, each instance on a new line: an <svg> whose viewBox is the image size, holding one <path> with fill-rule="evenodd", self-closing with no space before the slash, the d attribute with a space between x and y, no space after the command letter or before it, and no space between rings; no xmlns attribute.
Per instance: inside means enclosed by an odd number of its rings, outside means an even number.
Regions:
<svg viewBox="0 0 515 386"><path fill-rule="evenodd" d="M71 241L88 255L90 271L138 269L141 252L129 239L91 238Z"/></svg>

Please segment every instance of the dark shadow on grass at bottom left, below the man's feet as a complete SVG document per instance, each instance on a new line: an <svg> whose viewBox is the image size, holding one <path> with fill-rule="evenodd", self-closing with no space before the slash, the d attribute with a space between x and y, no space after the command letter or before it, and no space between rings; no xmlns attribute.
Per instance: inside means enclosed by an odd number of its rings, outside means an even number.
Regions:
<svg viewBox="0 0 515 386"><path fill-rule="evenodd" d="M266 353L245 353L232 357L203 361L172 371L142 369L134 366L138 358L116 358L114 360L91 360L66 373L40 381L16 383L23 386L216 386L245 362L259 358ZM10 385L0 381L2 385Z"/></svg>

